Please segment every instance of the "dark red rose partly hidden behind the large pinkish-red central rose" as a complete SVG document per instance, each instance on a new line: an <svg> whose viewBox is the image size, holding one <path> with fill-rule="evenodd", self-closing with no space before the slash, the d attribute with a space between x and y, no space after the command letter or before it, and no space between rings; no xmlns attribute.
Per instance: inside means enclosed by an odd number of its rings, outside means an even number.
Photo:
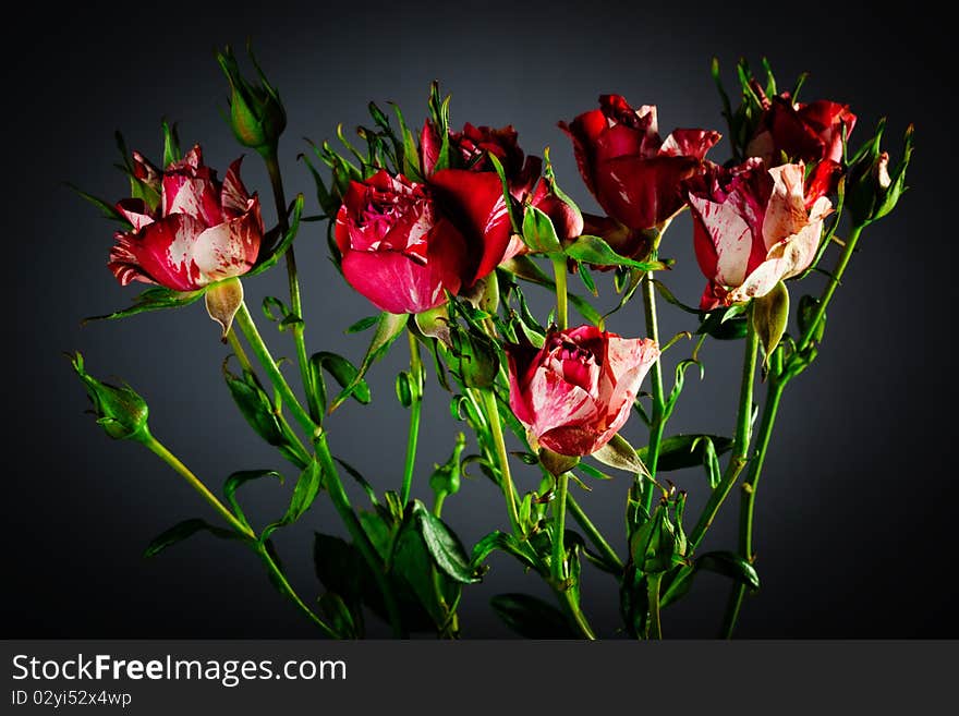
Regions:
<svg viewBox="0 0 959 716"><path fill-rule="evenodd" d="M519 134L511 124L501 129L474 126L466 122L462 132L449 132L451 169L496 172L489 156L502 166L510 193L522 201L539 178L543 162L539 157L527 157L518 143ZM442 146L442 137L436 124L426 120L420 134L420 160L423 175L435 173Z"/></svg>

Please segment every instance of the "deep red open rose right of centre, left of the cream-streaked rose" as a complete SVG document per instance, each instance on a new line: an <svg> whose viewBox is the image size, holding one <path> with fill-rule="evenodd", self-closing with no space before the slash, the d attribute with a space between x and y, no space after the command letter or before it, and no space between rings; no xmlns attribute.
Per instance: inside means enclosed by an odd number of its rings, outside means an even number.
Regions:
<svg viewBox="0 0 959 716"><path fill-rule="evenodd" d="M583 181L603 210L627 228L661 226L682 208L682 181L702 171L720 134L675 130L664 141L655 107L633 109L619 95L603 95L599 105L559 123L573 142Z"/></svg>

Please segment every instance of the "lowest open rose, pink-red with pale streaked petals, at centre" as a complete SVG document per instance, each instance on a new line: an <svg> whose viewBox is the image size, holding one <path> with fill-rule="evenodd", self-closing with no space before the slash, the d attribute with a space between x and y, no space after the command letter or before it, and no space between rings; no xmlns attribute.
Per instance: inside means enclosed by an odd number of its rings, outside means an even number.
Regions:
<svg viewBox="0 0 959 716"><path fill-rule="evenodd" d="M542 349L507 345L510 406L539 445L591 454L623 426L659 349L581 326L551 330Z"/></svg>

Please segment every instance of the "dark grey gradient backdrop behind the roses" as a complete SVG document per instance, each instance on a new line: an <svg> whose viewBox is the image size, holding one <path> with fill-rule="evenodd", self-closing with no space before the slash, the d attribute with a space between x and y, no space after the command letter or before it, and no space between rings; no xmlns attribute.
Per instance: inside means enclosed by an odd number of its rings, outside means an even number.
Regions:
<svg viewBox="0 0 959 716"><path fill-rule="evenodd" d="M946 174L951 161L943 155L952 146L946 136L951 117L940 104L952 104L942 100L949 92L940 85L945 24L920 20L918 9L912 16L863 17L839 3L653 4L457 2L418 10L364 2L324 12L320 3L271 2L256 11L206 3L189 13L130 4L56 16L26 9L20 24L5 24L2 173L4 239L13 256L4 262L3 380L12 433L4 436L3 635L315 635L235 544L198 536L161 558L142 559L147 542L172 523L211 515L150 453L109 441L83 415L86 399L60 354L80 349L95 375L129 380L150 402L154 434L210 485L259 466L293 476L271 449L251 439L233 409L220 378L227 351L201 305L80 326L83 316L128 305L136 289L121 289L106 270L110 224L61 184L70 180L96 195L123 196L124 179L111 168L112 131L122 129L131 147L156 157L163 116L180 122L184 145L202 142L207 162L222 171L240 149L221 120L227 86L211 50L242 46L247 35L287 104L281 160L288 192L303 191L311 213L312 180L295 161L305 146L300 137L330 137L337 122L368 123L369 99L396 100L418 123L433 78L453 94L454 125L512 122L527 151L551 145L562 186L587 209L595 205L556 121L593 108L600 93L617 92L635 105L657 104L664 134L673 126L725 132L708 75L713 54L723 60L727 84L740 54L754 66L767 54L784 86L809 70L806 99L848 101L859 114L853 144L885 112L895 157L906 124L915 122L912 191L864 238L829 311L821 357L787 392L758 497L763 588L749 599L739 634L959 635L946 586L957 487L948 444L955 429L944 410L952 393L954 356L945 339L954 291L943 250L952 241L955 215L955 199L946 197L955 184ZM723 143L713 158L727 157ZM244 179L269 207L255 156ZM307 340L312 350L359 360L368 336L342 330L373 311L336 275L317 226L305 227L296 244ZM669 286L693 303L703 279L689 235L683 217L664 253L679 260ZM817 292L822 279L809 281ZM246 282L255 314L260 298L282 295L284 283L282 270ZM603 290L609 305L608 281ZM542 299L534 289L530 294ZM547 303L536 305L545 316ZM692 327L668 306L663 314L666 337ZM614 329L642 332L638 305L616 318ZM260 328L275 353L292 354L288 335L266 321ZM392 389L405 359L398 349L369 376L374 403L348 404L330 423L335 452L380 490L399 485L405 444L406 415ZM688 350L668 354L670 373ZM731 432L740 356L739 343L707 344L706 380L689 380L670 433ZM423 498L433 463L446 459L462 427L449 420L447 401L430 380L414 486ZM644 442L636 420L624 434ZM517 472L521 489L534 486L532 471ZM705 477L700 471L670 476L690 492L689 513L696 514ZM263 523L280 514L291 484L248 485L253 519ZM581 501L622 550L628 480L594 487ZM737 511L732 495L704 548L735 547ZM506 521L501 497L485 478L465 482L445 517L468 544ZM315 529L340 532L325 499L277 535L291 580L306 598L318 593L311 561ZM538 578L523 574L510 558L494 556L491 566L486 581L465 593L466 636L509 635L488 608L496 593L549 598ZM612 580L588 565L583 574L585 609L598 632L612 636L619 623ZM727 592L726 580L703 574L664 615L666 634L713 635ZM373 634L386 633L373 623Z"/></svg>

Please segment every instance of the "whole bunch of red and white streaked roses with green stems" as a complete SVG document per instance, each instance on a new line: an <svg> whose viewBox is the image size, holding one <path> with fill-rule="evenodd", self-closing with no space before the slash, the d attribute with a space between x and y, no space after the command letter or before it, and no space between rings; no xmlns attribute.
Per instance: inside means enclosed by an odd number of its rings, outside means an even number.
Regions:
<svg viewBox="0 0 959 716"><path fill-rule="evenodd" d="M906 189L912 129L893 166L883 150L884 123L853 150L850 109L800 101L804 76L780 92L765 62L765 83L744 61L737 65L741 92L733 107L714 60L731 150L724 165L707 159L716 154L718 132L677 129L664 137L655 106L635 108L619 95L603 95L597 109L559 122L605 213L593 216L560 187L548 150L543 158L525 154L511 125L452 124L450 98L434 83L422 124L408 123L399 107L386 111L371 102L371 125L356 131L359 146L341 129L342 149L312 146L305 161L321 214L304 216L303 194L288 203L283 189L278 149L287 114L279 93L255 59L254 81L229 48L218 60L231 89L230 126L266 163L276 226L265 223L259 195L244 185L241 159L220 179L204 163L199 145L181 149L175 126L163 123L162 161L129 151L118 135L130 196L112 203L80 194L117 224L108 263L117 280L150 288L131 307L101 317L203 299L217 338L229 344L223 378L236 408L252 434L274 446L299 477L286 512L254 524L241 507L242 486L265 477L281 483L280 473L235 472L215 493L154 437L147 404L133 388L95 378L73 355L107 434L156 453L216 517L174 525L146 555L198 532L233 539L262 560L280 594L319 633L338 639L361 638L369 614L396 636L433 631L457 638L462 592L495 578L486 565L494 551L519 560L556 595L555 604L523 594L494 597L493 608L519 633L595 636L580 599L586 559L617 581L624 631L658 639L661 610L707 570L731 581L724 624L731 635L744 595L760 585L756 488L780 400L817 357L826 312L863 230L891 211ZM684 209L706 279L697 306L685 305L661 280L671 270L690 270L664 256L680 240L667 240L666 232ZM378 312L348 329L372 335L359 365L307 349L309 306L301 300L294 247L309 233L308 220L326 223L339 272ZM263 310L293 338L295 369L286 372L243 289L281 262L289 300L267 298ZM817 295L803 292L812 271L828 277ZM600 314L571 292L572 277L590 296L599 294L600 281L611 283L614 310ZM527 291L550 294L548 316L535 315ZM659 335L660 300L689 314L689 330ZM641 336L606 329L612 313L634 311L634 303L642 306ZM387 473L391 482L374 485L336 457L336 410L344 401L371 402L365 376L403 336L410 368L397 376L396 389L409 410L408 450L394 463L402 470ZM687 340L693 341L691 353L667 371L667 352ZM735 432L672 434L669 420L687 374L695 367L703 377L700 354L711 340L743 347ZM434 378L432 389L449 393L451 418L464 430L432 474L416 474L423 395ZM766 391L762 410L757 379ZM620 434L631 416L648 428L645 445ZM510 450L508 440L519 449ZM688 468L703 470L708 481L705 506L693 517L684 510L687 492L666 476ZM442 519L468 469L501 492L508 525L490 529L471 547ZM628 476L624 554L610 546L571 489L609 478L609 469ZM521 493L517 471L532 475L537 487ZM368 503L351 501L347 480L359 484ZM428 482L432 505L411 498L414 481ZM738 484L739 544L704 551L703 539ZM271 536L307 519L317 499L331 501L349 541L316 534L324 591L314 598L291 584ZM496 517L490 527L500 522Z"/></svg>

